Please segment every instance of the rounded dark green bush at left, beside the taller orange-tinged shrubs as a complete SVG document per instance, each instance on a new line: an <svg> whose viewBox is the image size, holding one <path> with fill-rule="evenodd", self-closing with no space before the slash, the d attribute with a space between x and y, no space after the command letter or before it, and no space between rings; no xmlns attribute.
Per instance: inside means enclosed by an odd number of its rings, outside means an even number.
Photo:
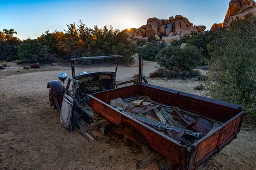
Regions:
<svg viewBox="0 0 256 170"><path fill-rule="evenodd" d="M38 40L24 40L18 55L22 62L43 63L47 58L47 46L42 46Z"/></svg>

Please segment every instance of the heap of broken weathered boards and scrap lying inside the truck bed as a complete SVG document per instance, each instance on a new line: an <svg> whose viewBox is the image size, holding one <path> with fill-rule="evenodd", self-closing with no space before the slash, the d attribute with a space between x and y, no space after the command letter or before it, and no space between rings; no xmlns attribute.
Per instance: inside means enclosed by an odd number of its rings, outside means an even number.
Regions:
<svg viewBox="0 0 256 170"><path fill-rule="evenodd" d="M148 96L118 98L111 100L110 105L177 142L186 144L189 152L193 143L221 125L175 106L154 102Z"/></svg>

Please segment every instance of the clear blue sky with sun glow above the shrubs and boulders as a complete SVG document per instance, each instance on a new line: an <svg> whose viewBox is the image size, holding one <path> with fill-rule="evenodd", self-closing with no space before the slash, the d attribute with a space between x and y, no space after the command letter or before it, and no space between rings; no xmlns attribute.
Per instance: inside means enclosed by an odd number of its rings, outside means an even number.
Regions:
<svg viewBox="0 0 256 170"><path fill-rule="evenodd" d="M83 20L88 27L139 28L148 18L183 15L210 29L222 23L230 0L0 0L0 30L14 28L17 37L36 38L63 31Z"/></svg>

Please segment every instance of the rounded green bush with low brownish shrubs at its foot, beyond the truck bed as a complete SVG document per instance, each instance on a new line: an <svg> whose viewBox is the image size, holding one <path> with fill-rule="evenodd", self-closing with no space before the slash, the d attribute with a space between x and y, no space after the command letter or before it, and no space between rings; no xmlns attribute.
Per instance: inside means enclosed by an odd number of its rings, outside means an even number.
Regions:
<svg viewBox="0 0 256 170"><path fill-rule="evenodd" d="M169 70L175 68L180 71L191 72L194 67L202 62L201 51L195 46L180 48L169 45L156 56L157 63Z"/></svg>

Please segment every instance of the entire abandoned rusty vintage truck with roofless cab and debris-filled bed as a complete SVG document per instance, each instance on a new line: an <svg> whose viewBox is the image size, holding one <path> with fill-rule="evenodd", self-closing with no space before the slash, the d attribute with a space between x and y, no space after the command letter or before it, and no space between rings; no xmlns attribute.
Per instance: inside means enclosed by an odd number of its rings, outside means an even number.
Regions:
<svg viewBox="0 0 256 170"><path fill-rule="evenodd" d="M116 82L120 57L73 58L72 78L65 81L62 73L61 82L48 82L50 105L58 108L61 124L70 132L78 125L88 140L92 130L122 134L148 152L137 161L138 169L162 158L175 161L179 170L198 169L236 139L244 106L150 85L143 77L142 57L138 77ZM75 74L77 60L111 58L116 59L113 72ZM118 88L125 83L133 85Z"/></svg>

